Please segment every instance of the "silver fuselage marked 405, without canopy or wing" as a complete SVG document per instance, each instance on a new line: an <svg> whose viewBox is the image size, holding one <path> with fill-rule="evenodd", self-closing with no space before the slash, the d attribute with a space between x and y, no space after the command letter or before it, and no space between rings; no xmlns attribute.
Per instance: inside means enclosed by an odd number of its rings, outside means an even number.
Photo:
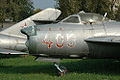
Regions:
<svg viewBox="0 0 120 80"><path fill-rule="evenodd" d="M120 22L99 24L49 24L29 27L29 53L35 56L80 58L89 55L85 39L96 36L120 36Z"/></svg>

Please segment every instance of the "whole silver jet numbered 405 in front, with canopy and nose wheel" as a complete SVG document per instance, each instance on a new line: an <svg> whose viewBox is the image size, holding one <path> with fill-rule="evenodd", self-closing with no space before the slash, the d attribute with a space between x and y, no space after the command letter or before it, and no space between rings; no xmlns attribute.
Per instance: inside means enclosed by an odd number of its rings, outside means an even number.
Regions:
<svg viewBox="0 0 120 80"><path fill-rule="evenodd" d="M70 15L57 24L24 28L26 46L37 60L62 58L120 59L120 22L95 13ZM45 57L45 58L44 58ZM55 64L60 74L66 69Z"/></svg>

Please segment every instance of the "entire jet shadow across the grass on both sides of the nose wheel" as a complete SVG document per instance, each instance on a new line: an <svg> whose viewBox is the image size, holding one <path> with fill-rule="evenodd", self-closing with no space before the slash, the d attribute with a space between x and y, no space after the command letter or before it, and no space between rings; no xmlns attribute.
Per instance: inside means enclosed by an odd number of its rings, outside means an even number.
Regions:
<svg viewBox="0 0 120 80"><path fill-rule="evenodd" d="M120 62L116 60L77 60L62 62L62 65L68 68L69 72L76 73L94 73L104 75L120 75ZM28 74L44 73L55 76L55 67L53 64L35 64L30 66L0 66L0 73Z"/></svg>

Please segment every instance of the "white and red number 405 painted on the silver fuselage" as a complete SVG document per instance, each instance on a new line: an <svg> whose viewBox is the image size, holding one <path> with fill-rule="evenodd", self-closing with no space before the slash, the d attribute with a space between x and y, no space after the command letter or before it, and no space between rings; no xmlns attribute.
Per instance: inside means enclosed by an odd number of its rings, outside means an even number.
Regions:
<svg viewBox="0 0 120 80"><path fill-rule="evenodd" d="M54 40L50 38L50 34L46 34L44 39L42 40L42 43L44 45L47 45L48 48L51 48L53 44L57 48L63 48L64 46L67 46L68 48L74 48L76 45L76 37L74 34L56 34L55 35L55 42Z"/></svg>

